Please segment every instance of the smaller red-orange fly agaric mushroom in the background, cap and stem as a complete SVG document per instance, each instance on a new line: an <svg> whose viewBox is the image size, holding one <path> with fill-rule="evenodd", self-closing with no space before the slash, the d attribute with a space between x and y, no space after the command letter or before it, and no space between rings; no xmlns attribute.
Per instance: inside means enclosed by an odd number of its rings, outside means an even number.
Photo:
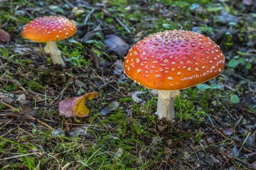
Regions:
<svg viewBox="0 0 256 170"><path fill-rule="evenodd" d="M23 28L22 36L36 42L46 42L44 51L50 54L54 64L65 65L56 41L69 38L77 31L75 24L62 16L43 16Z"/></svg>

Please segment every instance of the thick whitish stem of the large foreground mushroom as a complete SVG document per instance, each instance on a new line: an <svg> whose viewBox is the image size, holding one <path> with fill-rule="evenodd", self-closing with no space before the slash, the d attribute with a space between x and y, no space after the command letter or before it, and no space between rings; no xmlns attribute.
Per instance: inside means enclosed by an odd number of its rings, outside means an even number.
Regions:
<svg viewBox="0 0 256 170"><path fill-rule="evenodd" d="M158 91L158 101L157 101L157 112L159 119L166 118L166 120L173 120L175 118L174 114L174 99L179 95L178 90L174 91Z"/></svg>

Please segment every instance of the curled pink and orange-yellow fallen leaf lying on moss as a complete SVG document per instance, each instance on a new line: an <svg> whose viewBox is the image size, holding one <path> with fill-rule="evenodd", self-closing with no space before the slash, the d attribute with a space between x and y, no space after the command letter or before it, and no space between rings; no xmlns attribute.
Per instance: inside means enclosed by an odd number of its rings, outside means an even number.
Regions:
<svg viewBox="0 0 256 170"><path fill-rule="evenodd" d="M59 103L59 114L65 115L65 117L87 117L90 111L85 106L85 101L92 100L92 98L95 98L95 96L97 96L97 92L84 94L80 97L65 98Z"/></svg>

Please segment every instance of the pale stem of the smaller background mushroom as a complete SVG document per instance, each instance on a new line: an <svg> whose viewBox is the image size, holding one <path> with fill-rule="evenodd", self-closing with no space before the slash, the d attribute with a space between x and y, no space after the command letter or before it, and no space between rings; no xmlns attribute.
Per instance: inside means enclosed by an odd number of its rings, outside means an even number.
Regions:
<svg viewBox="0 0 256 170"><path fill-rule="evenodd" d="M50 54L51 59L53 60L53 64L61 64L65 65L61 58L61 52L58 50L57 44L55 41L46 42L46 47L44 51Z"/></svg>

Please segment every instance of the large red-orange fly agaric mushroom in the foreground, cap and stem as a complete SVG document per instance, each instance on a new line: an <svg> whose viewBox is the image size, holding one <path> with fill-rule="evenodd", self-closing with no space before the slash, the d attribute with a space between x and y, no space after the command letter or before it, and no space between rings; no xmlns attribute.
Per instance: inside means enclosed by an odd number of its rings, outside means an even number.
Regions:
<svg viewBox="0 0 256 170"><path fill-rule="evenodd" d="M173 120L179 90L217 77L225 67L220 47L199 33L166 30L149 35L129 50L124 72L137 84L158 90L159 118Z"/></svg>

